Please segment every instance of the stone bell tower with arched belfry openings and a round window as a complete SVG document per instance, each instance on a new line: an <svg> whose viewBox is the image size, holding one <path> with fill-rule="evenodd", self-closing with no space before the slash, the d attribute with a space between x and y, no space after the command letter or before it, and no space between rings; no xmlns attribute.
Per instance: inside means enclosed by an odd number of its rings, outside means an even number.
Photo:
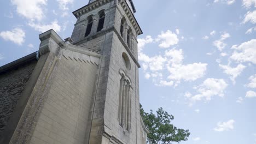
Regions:
<svg viewBox="0 0 256 144"><path fill-rule="evenodd" d="M73 12L74 45L102 53L89 143L146 143L139 114L137 35L142 30L135 12L132 0L90 0Z"/></svg>

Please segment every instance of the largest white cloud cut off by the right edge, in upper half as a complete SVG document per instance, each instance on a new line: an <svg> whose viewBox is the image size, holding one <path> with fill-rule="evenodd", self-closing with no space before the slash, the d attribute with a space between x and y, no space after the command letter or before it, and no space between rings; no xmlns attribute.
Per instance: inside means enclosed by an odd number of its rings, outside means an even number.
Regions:
<svg viewBox="0 0 256 144"><path fill-rule="evenodd" d="M235 51L232 53L231 59L237 62L252 62L256 64L256 39L252 39L241 45L232 46Z"/></svg>

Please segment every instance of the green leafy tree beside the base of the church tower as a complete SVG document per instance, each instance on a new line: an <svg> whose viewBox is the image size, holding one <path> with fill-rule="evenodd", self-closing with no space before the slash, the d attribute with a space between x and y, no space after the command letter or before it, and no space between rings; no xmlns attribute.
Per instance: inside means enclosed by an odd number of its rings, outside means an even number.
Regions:
<svg viewBox="0 0 256 144"><path fill-rule="evenodd" d="M150 144L172 144L173 142L187 141L190 135L189 130L178 129L171 124L174 119L161 108L156 111L156 115L150 110L145 112L141 106L142 119L150 131L147 142Z"/></svg>

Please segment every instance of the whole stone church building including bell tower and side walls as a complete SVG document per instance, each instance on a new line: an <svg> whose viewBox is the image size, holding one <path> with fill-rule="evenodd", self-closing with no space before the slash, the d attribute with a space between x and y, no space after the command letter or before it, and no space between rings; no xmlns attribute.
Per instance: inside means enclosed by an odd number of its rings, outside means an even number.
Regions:
<svg viewBox="0 0 256 144"><path fill-rule="evenodd" d="M132 0L90 0L70 38L0 67L0 143L146 144Z"/></svg>

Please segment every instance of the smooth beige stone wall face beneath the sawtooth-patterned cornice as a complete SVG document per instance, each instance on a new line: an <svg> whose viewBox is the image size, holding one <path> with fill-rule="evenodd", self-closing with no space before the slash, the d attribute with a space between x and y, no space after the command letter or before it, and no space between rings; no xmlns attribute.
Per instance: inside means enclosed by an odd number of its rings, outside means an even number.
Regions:
<svg viewBox="0 0 256 144"><path fill-rule="evenodd" d="M96 71L97 65L91 62L58 60L30 143L86 143Z"/></svg>

